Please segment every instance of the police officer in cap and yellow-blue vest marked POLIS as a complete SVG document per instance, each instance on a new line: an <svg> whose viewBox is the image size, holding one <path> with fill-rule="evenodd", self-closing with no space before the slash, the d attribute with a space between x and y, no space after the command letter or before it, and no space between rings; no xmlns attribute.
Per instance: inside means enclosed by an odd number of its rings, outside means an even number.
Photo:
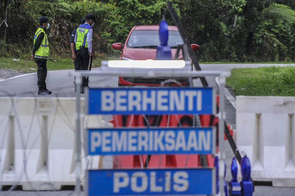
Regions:
<svg viewBox="0 0 295 196"><path fill-rule="evenodd" d="M94 25L94 21L97 22L97 20L95 19L93 14L87 14L85 18L86 22L78 27L74 41L76 44L77 61L79 61L80 66L83 67L83 70L91 70L93 59L92 26ZM83 77L81 93L83 93L84 89L88 87L88 83L88 76Z"/></svg>

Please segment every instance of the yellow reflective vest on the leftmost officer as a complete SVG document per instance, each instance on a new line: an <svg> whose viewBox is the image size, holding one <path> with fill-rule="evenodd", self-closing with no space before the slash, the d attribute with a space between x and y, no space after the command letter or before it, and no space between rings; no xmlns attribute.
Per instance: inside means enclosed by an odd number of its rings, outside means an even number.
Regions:
<svg viewBox="0 0 295 196"><path fill-rule="evenodd" d="M42 27L39 27L37 29L35 36L34 36L34 44L36 42L37 37L40 35L40 33L44 33L44 37L42 39L40 47L37 49L35 53L35 58L40 58L40 59L48 59L49 58L49 43L47 40L47 35Z"/></svg>

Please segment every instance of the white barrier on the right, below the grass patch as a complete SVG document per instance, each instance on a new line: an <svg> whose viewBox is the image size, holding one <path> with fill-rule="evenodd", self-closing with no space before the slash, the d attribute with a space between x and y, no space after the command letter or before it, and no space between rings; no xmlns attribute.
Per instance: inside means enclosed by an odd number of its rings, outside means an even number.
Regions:
<svg viewBox="0 0 295 196"><path fill-rule="evenodd" d="M254 181L295 187L295 97L237 96L237 147Z"/></svg>

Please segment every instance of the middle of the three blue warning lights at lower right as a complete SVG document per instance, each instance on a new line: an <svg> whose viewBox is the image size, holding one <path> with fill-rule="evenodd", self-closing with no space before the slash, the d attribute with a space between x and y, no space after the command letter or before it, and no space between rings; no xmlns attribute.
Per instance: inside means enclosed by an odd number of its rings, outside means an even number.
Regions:
<svg viewBox="0 0 295 196"><path fill-rule="evenodd" d="M237 180L238 167L237 167L237 160L235 159L235 157L232 158L232 165L231 165L230 170L232 172L232 180L228 183L229 195L230 196L241 196L242 188L241 188L240 183Z"/></svg>

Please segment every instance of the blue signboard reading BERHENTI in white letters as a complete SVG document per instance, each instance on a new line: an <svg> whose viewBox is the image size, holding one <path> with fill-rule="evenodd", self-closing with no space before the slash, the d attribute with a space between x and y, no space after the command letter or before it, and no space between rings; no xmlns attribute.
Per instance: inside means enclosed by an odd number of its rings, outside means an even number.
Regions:
<svg viewBox="0 0 295 196"><path fill-rule="evenodd" d="M214 114L213 88L91 88L88 114Z"/></svg>

